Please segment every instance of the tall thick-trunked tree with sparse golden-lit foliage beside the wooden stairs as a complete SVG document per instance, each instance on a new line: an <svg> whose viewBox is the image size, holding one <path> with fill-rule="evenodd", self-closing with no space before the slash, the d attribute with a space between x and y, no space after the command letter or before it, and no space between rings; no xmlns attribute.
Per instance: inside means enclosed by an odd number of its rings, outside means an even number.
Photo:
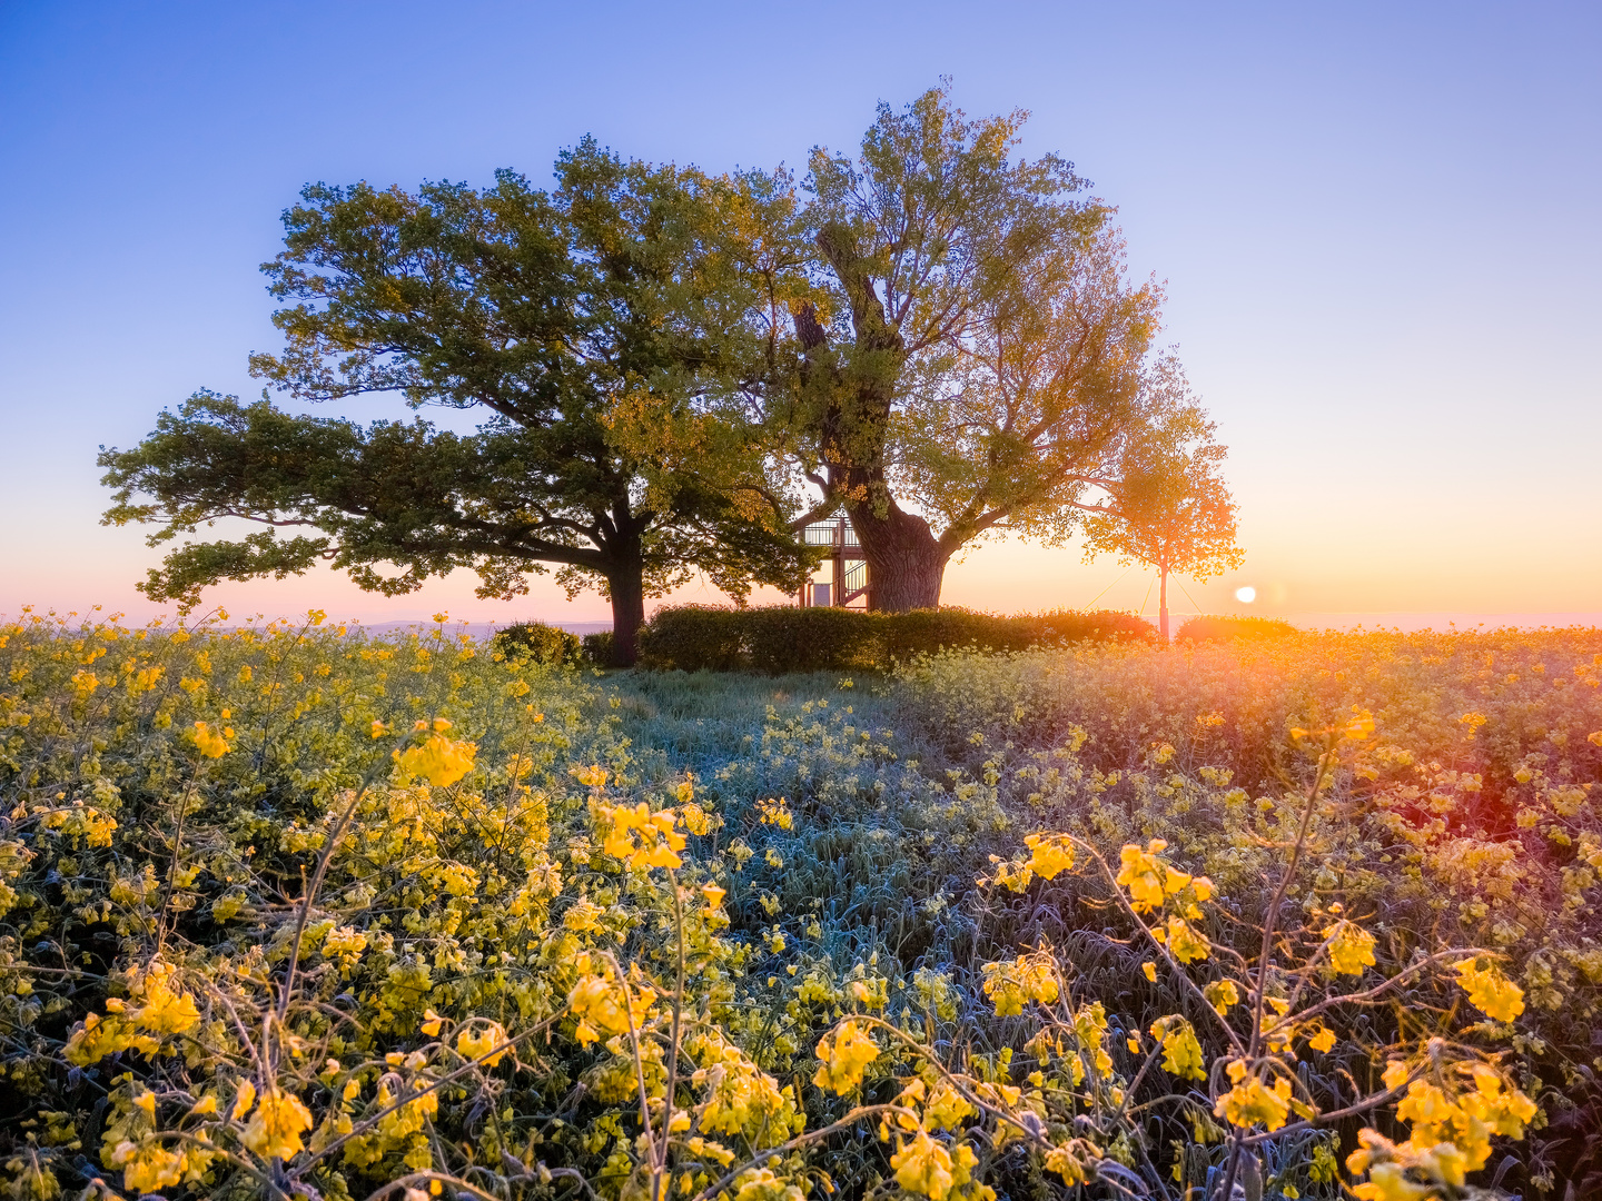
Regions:
<svg viewBox="0 0 1602 1201"><path fill-rule="evenodd" d="M1061 543L1145 420L1160 290L1129 285L1072 163L1016 155L1022 122L931 90L879 106L855 160L812 152L812 290L772 412L823 493L807 517L851 516L878 609L939 604L990 532Z"/></svg>

